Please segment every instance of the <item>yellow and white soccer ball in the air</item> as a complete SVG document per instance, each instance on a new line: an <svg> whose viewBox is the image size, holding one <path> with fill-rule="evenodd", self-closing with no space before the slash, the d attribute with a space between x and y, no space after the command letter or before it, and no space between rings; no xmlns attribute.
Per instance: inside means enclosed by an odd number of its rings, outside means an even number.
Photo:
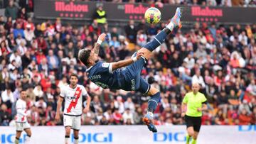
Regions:
<svg viewBox="0 0 256 144"><path fill-rule="evenodd" d="M144 15L146 23L156 24L161 20L161 12L155 7L151 7L146 10Z"/></svg>

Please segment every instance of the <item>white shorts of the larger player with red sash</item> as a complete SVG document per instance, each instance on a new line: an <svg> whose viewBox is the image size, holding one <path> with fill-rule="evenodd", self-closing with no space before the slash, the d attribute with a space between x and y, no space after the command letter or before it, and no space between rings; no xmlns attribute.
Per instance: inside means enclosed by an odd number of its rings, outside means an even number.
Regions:
<svg viewBox="0 0 256 144"><path fill-rule="evenodd" d="M64 126L70 126L74 130L80 130L81 127L81 116L68 116L63 115Z"/></svg>

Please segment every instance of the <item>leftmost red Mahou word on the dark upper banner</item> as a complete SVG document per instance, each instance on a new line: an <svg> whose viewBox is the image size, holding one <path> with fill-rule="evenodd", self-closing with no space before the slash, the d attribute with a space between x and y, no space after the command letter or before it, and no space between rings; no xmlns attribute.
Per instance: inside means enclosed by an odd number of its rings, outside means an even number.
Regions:
<svg viewBox="0 0 256 144"><path fill-rule="evenodd" d="M69 4L65 4L63 1L55 1L55 11L61 12L88 12L87 4L74 4L70 2Z"/></svg>

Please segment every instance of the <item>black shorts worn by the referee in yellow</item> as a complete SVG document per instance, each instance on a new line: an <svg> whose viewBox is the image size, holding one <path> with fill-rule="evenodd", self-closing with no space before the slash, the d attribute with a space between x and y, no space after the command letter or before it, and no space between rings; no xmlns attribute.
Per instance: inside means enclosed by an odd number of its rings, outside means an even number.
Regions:
<svg viewBox="0 0 256 144"><path fill-rule="evenodd" d="M186 126L191 127L193 126L194 131L199 132L201 128L201 116L200 117L192 117L192 116L185 116Z"/></svg>

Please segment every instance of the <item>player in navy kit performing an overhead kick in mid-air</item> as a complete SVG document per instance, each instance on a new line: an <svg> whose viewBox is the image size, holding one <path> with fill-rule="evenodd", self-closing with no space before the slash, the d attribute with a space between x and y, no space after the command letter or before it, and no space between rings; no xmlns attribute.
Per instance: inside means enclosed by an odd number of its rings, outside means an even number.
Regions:
<svg viewBox="0 0 256 144"><path fill-rule="evenodd" d="M148 126L149 130L156 133L156 127L153 122L153 113L160 99L160 92L150 85L141 77L141 71L146 60L149 60L151 52L159 45L164 43L164 40L174 28L181 28L181 9L177 8L176 13L171 22L158 33L154 40L147 43L143 48L138 50L128 60L119 62L96 62L99 54L99 49L102 41L105 40L105 33L102 33L95 47L92 50L82 49L78 52L80 61L87 66L87 76L89 79L102 87L103 89L123 89L126 91L136 91L150 96L149 107L144 116L143 121ZM124 69L119 69L126 67Z"/></svg>

